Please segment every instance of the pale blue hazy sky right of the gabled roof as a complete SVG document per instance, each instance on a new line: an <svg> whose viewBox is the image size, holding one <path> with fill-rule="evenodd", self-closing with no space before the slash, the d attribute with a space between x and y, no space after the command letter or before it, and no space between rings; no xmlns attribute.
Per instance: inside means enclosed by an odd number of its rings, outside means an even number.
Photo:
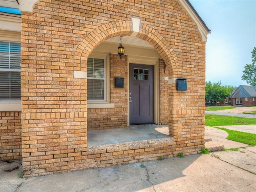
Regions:
<svg viewBox="0 0 256 192"><path fill-rule="evenodd" d="M189 0L211 30L206 42L206 81L222 86L241 80L256 47L256 0Z"/></svg>

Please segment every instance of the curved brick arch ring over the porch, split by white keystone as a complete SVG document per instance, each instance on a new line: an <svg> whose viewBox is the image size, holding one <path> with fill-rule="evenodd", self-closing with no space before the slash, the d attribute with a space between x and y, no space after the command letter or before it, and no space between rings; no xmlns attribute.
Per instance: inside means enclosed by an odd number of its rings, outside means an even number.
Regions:
<svg viewBox="0 0 256 192"><path fill-rule="evenodd" d="M130 36L132 34L132 22L116 21L104 24L94 29L80 43L74 54L74 69L86 71L87 58L100 43L116 36ZM169 78L181 76L181 67L178 57L169 42L156 30L146 24L141 24L138 38L150 43L162 56L169 70Z"/></svg>

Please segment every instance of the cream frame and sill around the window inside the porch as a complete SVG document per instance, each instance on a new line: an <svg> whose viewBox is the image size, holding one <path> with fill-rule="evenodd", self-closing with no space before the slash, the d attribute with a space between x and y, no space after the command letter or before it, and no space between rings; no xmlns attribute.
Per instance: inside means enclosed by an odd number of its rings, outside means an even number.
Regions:
<svg viewBox="0 0 256 192"><path fill-rule="evenodd" d="M87 108L114 108L115 104L110 103L110 54L92 53L89 58L99 58L105 60L105 88L104 100L87 100ZM89 79L87 77L87 79Z"/></svg>

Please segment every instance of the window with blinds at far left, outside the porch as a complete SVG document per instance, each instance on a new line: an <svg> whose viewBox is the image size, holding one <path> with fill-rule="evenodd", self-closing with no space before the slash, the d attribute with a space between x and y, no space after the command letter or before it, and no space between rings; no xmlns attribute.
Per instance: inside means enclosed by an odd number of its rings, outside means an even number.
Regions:
<svg viewBox="0 0 256 192"><path fill-rule="evenodd" d="M20 43L0 41L0 100L20 100Z"/></svg>

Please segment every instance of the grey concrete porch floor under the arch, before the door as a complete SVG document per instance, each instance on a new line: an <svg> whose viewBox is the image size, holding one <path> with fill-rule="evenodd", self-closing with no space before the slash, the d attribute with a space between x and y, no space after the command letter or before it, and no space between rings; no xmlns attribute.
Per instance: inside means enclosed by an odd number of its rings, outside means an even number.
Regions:
<svg viewBox="0 0 256 192"><path fill-rule="evenodd" d="M127 128L89 130L88 147L144 140L172 138L168 135L168 125L138 125Z"/></svg>

